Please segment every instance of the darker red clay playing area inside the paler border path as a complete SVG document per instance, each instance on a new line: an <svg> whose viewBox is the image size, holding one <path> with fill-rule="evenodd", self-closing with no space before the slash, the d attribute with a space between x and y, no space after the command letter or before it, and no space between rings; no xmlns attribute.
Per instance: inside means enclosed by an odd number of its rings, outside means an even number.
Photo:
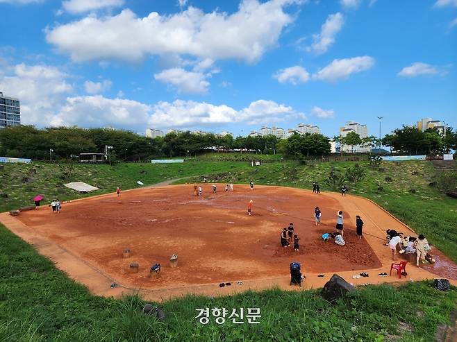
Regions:
<svg viewBox="0 0 457 342"><path fill-rule="evenodd" d="M122 196L93 198L51 210L24 212L19 220L45 237L82 257L127 287L169 287L228 282L289 274L292 261L306 271L336 272L379 268L381 262L365 239L358 241L354 217L346 213L347 246L322 243L323 232L333 232L340 204L333 198L281 187L235 186L234 192L213 194L203 187L203 198L192 186L138 189ZM222 189L222 185L218 185ZM253 215L247 203L254 200ZM322 210L315 227L313 212ZM280 246L279 234L289 222L301 237L301 250ZM124 259L122 250L131 249ZM178 255L178 268L169 257ZM129 264L138 262L139 273ZM149 279L152 264L162 264L162 276Z"/></svg>

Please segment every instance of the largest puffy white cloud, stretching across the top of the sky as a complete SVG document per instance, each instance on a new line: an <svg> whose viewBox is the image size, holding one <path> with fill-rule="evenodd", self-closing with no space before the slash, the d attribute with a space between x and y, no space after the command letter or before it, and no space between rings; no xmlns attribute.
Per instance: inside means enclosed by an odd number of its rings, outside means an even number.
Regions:
<svg viewBox="0 0 457 342"><path fill-rule="evenodd" d="M292 22L284 7L299 0L244 0L237 12L204 13L190 6L174 15L151 12L137 17L131 10L118 15L88 16L48 28L47 42L72 60L126 60L177 53L197 58L256 62L276 46L283 28Z"/></svg>

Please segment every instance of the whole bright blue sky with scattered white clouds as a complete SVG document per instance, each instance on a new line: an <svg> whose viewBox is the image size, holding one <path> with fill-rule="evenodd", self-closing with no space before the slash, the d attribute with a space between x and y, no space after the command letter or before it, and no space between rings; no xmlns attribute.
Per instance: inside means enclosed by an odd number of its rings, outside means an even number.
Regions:
<svg viewBox="0 0 457 342"><path fill-rule="evenodd" d="M0 92L39 127L457 127L457 0L0 0Z"/></svg>

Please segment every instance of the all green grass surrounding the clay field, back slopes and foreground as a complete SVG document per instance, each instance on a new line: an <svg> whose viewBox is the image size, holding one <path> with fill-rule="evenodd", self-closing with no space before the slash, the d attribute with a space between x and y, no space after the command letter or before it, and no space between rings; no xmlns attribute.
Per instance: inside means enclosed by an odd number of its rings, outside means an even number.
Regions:
<svg viewBox="0 0 457 342"><path fill-rule="evenodd" d="M135 187L137 180L150 185L175 178L179 182L242 182L309 188L324 180L331 167L344 169L354 163L268 162L251 168L247 162L214 162L199 158L185 164L80 165L62 169L57 164L7 164L0 171L0 211L31 203L36 194L63 200L78 198L63 187L81 180L100 188L93 194ZM224 158L231 159L229 156ZM276 157L277 158L277 157ZM360 163L365 165L363 163ZM67 166L67 165L65 165ZM367 169L367 176L350 193L375 200L457 261L456 200L429 187L433 169L428 162L384 163L385 171ZM28 178L23 182L22 178ZM190 178L188 178L190 177ZM385 178L392 178L386 182ZM378 191L379 184L383 191ZM410 189L416 190L415 194ZM456 309L457 289L441 293L430 282L399 288L369 286L356 296L333 305L317 291L287 292L272 289L224 298L188 296L163 304L168 318L156 322L140 313L138 297L114 300L90 295L69 280L32 246L0 225L0 341L432 341L439 325L449 323ZM231 321L201 325L197 308L260 307L259 325Z"/></svg>

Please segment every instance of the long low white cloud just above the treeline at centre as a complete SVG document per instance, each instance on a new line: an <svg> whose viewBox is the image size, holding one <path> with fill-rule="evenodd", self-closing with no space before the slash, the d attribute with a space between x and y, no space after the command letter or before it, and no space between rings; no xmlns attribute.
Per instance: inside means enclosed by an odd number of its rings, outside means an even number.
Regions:
<svg viewBox="0 0 457 342"><path fill-rule="evenodd" d="M158 128L190 128L236 122L272 123L287 121L292 117L303 119L304 114L274 101L258 100L247 108L235 110L228 105L176 100L172 103L159 102L154 105L148 124Z"/></svg>

